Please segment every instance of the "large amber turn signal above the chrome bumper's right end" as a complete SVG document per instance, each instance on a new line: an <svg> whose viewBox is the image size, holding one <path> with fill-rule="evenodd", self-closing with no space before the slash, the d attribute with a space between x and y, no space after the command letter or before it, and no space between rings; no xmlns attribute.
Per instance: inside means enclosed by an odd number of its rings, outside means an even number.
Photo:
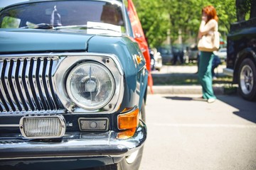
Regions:
<svg viewBox="0 0 256 170"><path fill-rule="evenodd" d="M119 130L137 128L138 123L139 123L139 108L134 109L132 112L118 115Z"/></svg>

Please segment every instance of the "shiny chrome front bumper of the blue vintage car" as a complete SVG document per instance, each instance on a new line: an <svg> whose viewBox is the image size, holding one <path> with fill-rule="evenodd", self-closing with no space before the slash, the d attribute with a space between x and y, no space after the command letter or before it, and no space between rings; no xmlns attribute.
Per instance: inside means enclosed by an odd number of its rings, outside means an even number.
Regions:
<svg viewBox="0 0 256 170"><path fill-rule="evenodd" d="M146 125L139 123L133 137L117 139L117 132L101 134L68 134L60 140L23 140L16 137L0 137L0 161L18 159L66 159L85 157L124 157L144 145Z"/></svg>

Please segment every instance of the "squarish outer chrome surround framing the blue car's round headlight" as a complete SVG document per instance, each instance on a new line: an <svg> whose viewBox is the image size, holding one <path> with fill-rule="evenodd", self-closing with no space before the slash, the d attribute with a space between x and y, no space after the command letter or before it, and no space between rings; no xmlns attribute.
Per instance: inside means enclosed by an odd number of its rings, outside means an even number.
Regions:
<svg viewBox="0 0 256 170"><path fill-rule="evenodd" d="M119 109L124 96L124 69L117 55L95 52L63 52L51 53L50 56L57 56L60 58L60 62L55 65L55 72L53 72L53 88L60 102L67 109L67 113L110 114L116 112ZM71 101L70 97L68 96L65 84L68 73L71 69L73 69L73 67L75 67L75 65L81 62L90 61L98 62L110 70L114 77L116 88L110 103L108 103L107 106L94 111L80 108L73 101Z"/></svg>

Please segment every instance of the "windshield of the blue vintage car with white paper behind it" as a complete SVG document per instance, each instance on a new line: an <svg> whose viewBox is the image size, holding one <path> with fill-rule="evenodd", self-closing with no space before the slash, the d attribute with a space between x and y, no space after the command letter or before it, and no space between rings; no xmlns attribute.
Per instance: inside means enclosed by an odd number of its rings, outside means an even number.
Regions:
<svg viewBox="0 0 256 170"><path fill-rule="evenodd" d="M0 13L0 28L95 28L125 33L122 7L106 1L43 1Z"/></svg>

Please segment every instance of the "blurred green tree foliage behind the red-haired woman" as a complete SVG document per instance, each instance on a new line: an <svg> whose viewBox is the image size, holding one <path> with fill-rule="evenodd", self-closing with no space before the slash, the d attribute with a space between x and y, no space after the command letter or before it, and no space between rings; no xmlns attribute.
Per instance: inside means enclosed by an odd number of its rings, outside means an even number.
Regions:
<svg viewBox="0 0 256 170"><path fill-rule="evenodd" d="M171 43L178 40L197 42L203 6L215 6L219 17L219 31L223 38L228 34L230 23L236 20L235 0L133 0L149 46L157 47L171 32Z"/></svg>

